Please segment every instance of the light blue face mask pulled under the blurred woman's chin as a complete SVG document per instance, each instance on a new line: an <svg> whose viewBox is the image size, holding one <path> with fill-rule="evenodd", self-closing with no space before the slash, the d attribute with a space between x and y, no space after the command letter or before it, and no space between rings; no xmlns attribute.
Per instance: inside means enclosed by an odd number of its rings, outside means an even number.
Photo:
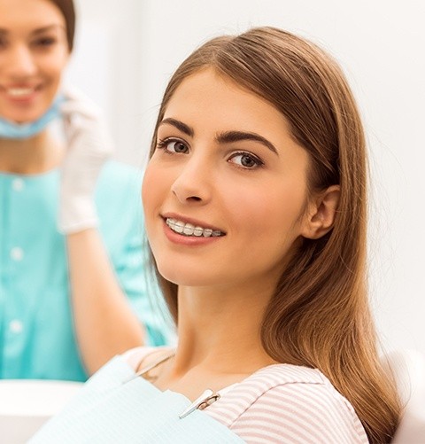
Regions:
<svg viewBox="0 0 425 444"><path fill-rule="evenodd" d="M64 97L57 97L53 102L53 105L50 106L40 119L29 123L13 123L12 121L6 121L0 117L0 138L27 139L41 133L43 129L46 129L50 121L61 116L60 104L63 100Z"/></svg>

